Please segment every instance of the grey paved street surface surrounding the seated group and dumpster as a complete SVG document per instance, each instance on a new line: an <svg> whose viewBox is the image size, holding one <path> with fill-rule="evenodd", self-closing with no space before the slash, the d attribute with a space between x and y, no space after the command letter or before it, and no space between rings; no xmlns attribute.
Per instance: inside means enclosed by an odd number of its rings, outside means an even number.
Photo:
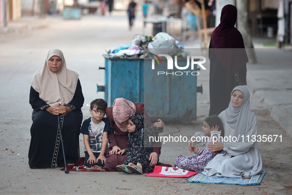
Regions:
<svg viewBox="0 0 292 195"><path fill-rule="evenodd" d="M260 142L263 170L267 171L259 186L202 185L180 183L186 179L148 178L119 172L73 172L56 169L30 169L31 106L28 83L43 64L49 49L64 52L69 69L80 74L85 102L83 117L88 118L88 104L96 94L96 83L103 84L105 50L129 44L134 34L150 34L151 25L142 30L141 19L128 31L126 16L91 15L79 21L64 21L59 16L46 19L24 18L0 27L0 194L291 194L291 50L257 49L257 64L248 65L248 87L251 109L258 117L260 135L282 135L282 141ZM172 31L175 32L175 31ZM198 47L194 41L187 48ZM256 39L255 46L262 47ZM198 50L199 52L200 50ZM208 65L207 65L208 67ZM208 68L207 68L208 69ZM191 136L201 130L209 111L209 72L202 71L198 85L204 93L197 96L198 120L191 125L167 124L164 133ZM271 116L272 115L272 116ZM290 129L289 129L290 128ZM287 131L287 132L286 132ZM80 136L81 150L83 149ZM180 155L188 155L186 144L162 148L161 162L173 164ZM83 154L81 154L83 155Z"/></svg>

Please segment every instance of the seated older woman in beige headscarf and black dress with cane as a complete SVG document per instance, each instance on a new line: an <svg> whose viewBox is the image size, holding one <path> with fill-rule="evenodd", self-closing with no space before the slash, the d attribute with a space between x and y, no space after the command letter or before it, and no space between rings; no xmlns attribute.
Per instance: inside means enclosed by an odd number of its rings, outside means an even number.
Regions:
<svg viewBox="0 0 292 195"><path fill-rule="evenodd" d="M79 133L83 120L84 97L78 74L67 69L63 53L48 52L44 65L30 79L30 104L33 124L29 148L31 168L63 167L60 119L68 165L79 159Z"/></svg>

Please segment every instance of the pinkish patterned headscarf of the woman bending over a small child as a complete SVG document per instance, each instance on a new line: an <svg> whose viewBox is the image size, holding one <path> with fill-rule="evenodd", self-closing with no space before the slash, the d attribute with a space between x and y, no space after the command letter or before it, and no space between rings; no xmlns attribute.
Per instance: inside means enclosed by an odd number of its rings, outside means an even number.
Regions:
<svg viewBox="0 0 292 195"><path fill-rule="evenodd" d="M136 106L133 102L125 98L116 98L113 103L113 117L116 125L122 131L126 131L127 120L136 112Z"/></svg>

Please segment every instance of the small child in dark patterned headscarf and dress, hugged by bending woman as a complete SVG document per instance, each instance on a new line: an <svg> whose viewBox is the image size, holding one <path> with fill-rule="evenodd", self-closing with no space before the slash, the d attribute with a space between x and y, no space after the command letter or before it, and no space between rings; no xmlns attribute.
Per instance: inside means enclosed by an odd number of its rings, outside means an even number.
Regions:
<svg viewBox="0 0 292 195"><path fill-rule="evenodd" d="M121 155L126 153L127 158L124 164L116 167L117 170L129 174L133 172L142 174L153 170L153 167L149 166L149 157L153 150L149 137L157 136L163 131L164 123L160 119L158 121L146 128L148 122L144 114L135 113L128 119L126 128L129 132L128 144L130 148L118 152Z"/></svg>

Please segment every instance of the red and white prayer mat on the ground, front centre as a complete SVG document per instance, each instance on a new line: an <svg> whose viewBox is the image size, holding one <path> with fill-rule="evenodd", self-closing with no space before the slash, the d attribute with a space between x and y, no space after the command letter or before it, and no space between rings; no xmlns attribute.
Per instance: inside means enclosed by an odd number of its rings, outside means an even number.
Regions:
<svg viewBox="0 0 292 195"><path fill-rule="evenodd" d="M155 166L153 173L145 176L149 177L175 177L175 178L188 178L197 174L198 171L188 171L181 168L174 168L168 166Z"/></svg>

